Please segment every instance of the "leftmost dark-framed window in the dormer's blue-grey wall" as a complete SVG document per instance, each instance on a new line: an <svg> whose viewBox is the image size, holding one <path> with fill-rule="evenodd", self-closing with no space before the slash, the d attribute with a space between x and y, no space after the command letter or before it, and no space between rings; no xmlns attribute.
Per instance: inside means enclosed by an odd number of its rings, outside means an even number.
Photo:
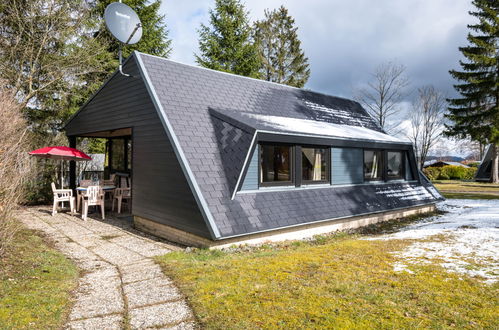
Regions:
<svg viewBox="0 0 499 330"><path fill-rule="evenodd" d="M288 145L260 145L260 183L265 186L293 183L293 151Z"/></svg>

